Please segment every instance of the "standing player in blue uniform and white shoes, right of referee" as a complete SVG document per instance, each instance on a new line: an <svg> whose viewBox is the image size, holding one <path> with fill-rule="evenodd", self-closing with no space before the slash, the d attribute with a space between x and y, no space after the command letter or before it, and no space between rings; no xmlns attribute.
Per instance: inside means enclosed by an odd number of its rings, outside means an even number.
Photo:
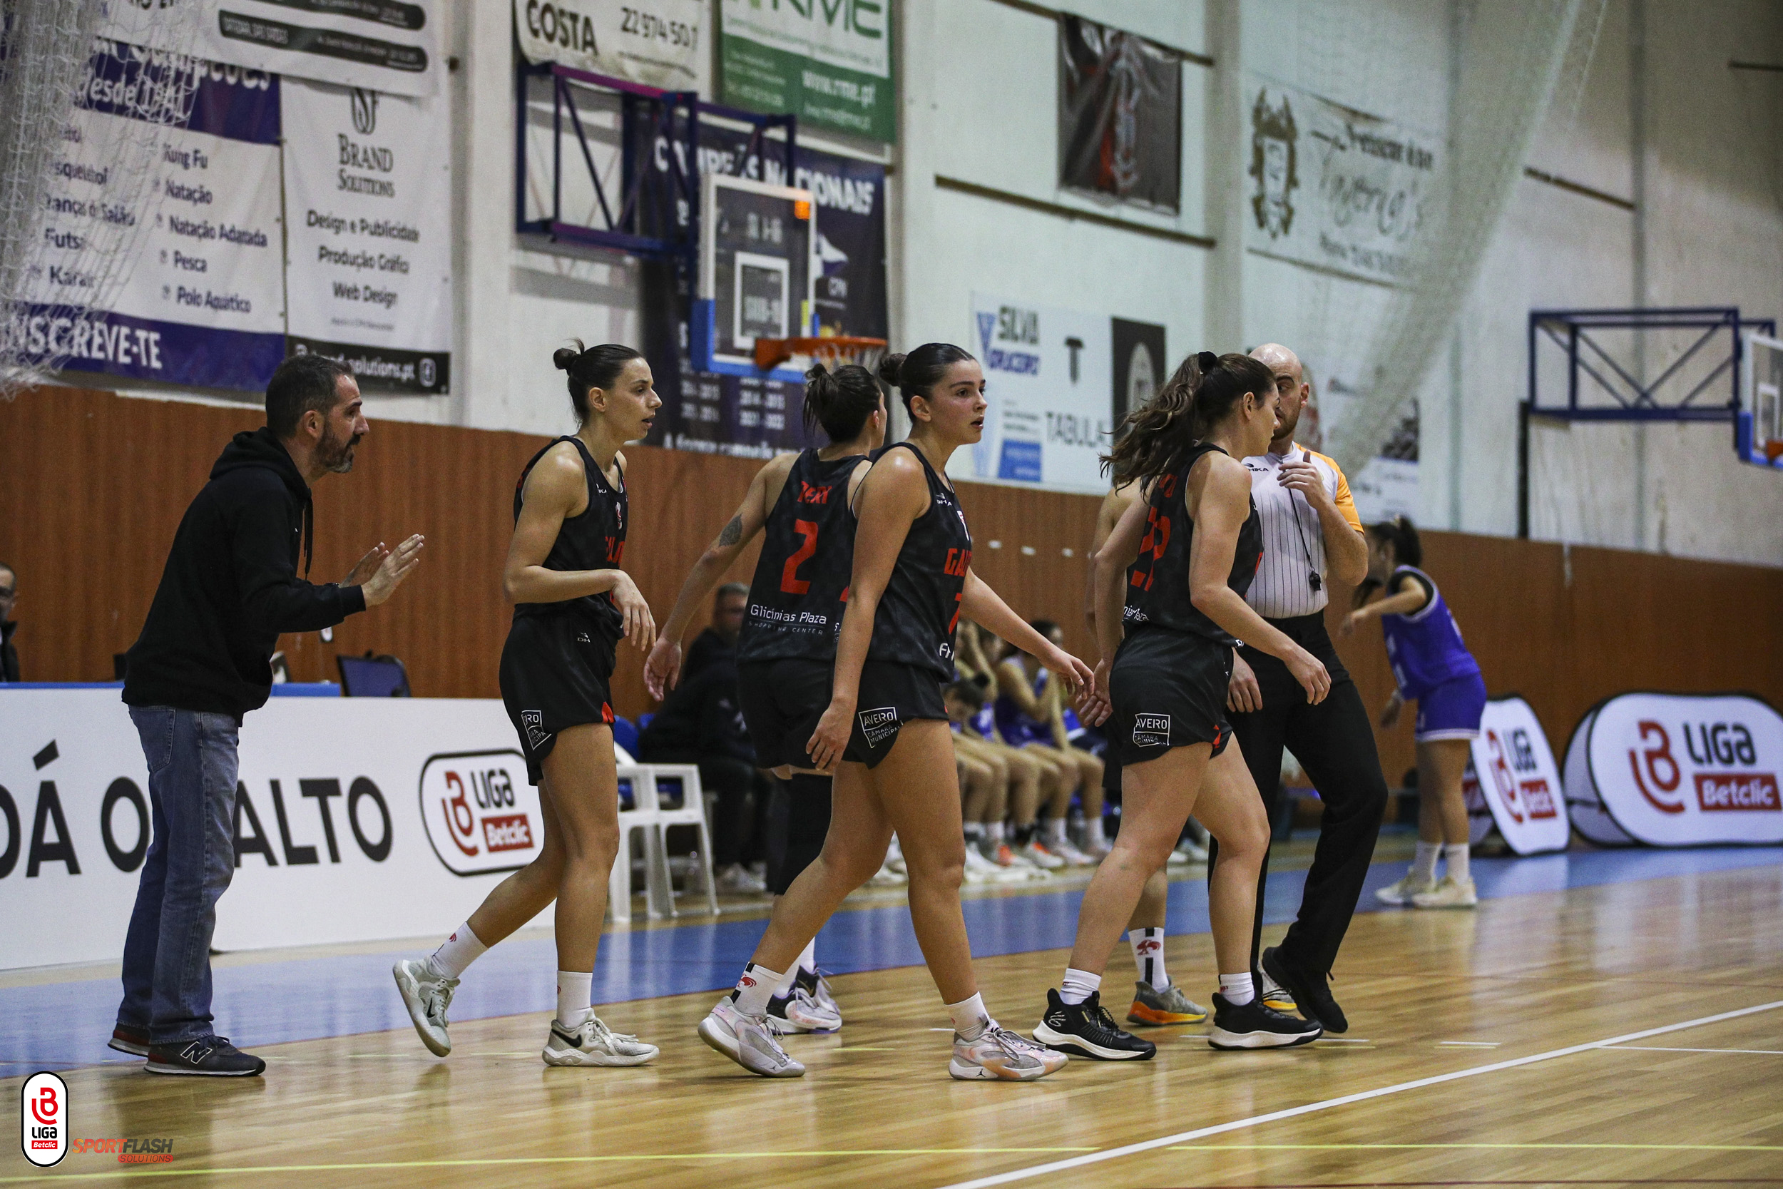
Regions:
<svg viewBox="0 0 1783 1189"><path fill-rule="evenodd" d="M1469 745L1480 734L1485 679L1435 579L1417 569L1423 560L1417 529L1409 519L1371 524L1368 581L1357 588L1357 608L1339 631L1348 636L1369 619L1380 619L1398 683L1380 715L1382 727L1393 729L1405 702L1417 702L1412 736L1417 742L1417 857L1403 879L1375 895L1387 904L1462 909L1480 902L1467 870L1462 775ZM1369 603L1376 590L1382 597ZM1448 865L1441 881L1435 879L1437 852Z"/></svg>

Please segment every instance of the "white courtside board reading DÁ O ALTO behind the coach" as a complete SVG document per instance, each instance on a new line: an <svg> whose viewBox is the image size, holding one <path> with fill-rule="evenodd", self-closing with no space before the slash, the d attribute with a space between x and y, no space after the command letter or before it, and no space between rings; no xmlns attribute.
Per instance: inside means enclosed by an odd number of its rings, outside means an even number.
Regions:
<svg viewBox="0 0 1783 1189"><path fill-rule="evenodd" d="M0 966L116 961L150 841L136 727L118 690L0 699ZM542 829L496 699L273 699L241 731L216 947L444 934Z"/></svg>

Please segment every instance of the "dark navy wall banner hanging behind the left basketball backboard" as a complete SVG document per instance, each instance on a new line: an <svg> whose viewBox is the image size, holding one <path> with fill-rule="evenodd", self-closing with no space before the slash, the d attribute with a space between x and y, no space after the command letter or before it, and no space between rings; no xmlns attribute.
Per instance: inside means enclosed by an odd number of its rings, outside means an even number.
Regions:
<svg viewBox="0 0 1783 1189"><path fill-rule="evenodd" d="M644 121L640 121L642 125ZM667 234L686 209L676 201L669 162L681 144L640 128L647 143L635 146L635 160L649 162L644 193L644 234ZM799 146L793 176L786 178L783 150L768 155L749 152L749 134L713 123L699 127L699 173L754 178L811 191L817 201L817 255L813 312L818 333L886 337L886 168ZM656 419L651 446L701 453L770 458L779 451L822 446L822 433L808 437L799 410L804 387L754 376L720 376L694 369L688 355L690 278L674 264L645 262L644 353L656 374L663 415Z"/></svg>

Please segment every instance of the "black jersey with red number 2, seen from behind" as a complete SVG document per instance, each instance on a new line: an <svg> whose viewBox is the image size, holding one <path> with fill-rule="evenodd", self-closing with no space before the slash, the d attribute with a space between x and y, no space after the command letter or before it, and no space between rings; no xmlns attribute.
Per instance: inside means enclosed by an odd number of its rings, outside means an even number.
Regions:
<svg viewBox="0 0 1783 1189"><path fill-rule="evenodd" d="M865 455L824 462L802 451L761 528L738 661L836 658L842 608L854 574L849 476Z"/></svg>

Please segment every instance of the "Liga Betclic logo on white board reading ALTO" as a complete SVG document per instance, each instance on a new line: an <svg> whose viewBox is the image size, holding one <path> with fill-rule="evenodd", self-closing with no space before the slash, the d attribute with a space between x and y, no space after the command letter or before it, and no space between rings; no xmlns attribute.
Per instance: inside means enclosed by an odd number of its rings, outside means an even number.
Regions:
<svg viewBox="0 0 1783 1189"><path fill-rule="evenodd" d="M544 840L538 790L512 749L428 758L421 820L433 854L455 875L519 870Z"/></svg>

